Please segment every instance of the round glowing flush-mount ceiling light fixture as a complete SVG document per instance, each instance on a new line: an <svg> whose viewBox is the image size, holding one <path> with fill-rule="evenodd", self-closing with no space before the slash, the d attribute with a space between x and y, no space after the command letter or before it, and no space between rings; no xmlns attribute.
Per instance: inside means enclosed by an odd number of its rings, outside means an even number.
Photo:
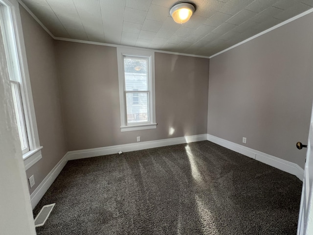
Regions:
<svg viewBox="0 0 313 235"><path fill-rule="evenodd" d="M184 24L189 21L194 12L195 7L190 3L179 3L170 10L173 20L178 24Z"/></svg>

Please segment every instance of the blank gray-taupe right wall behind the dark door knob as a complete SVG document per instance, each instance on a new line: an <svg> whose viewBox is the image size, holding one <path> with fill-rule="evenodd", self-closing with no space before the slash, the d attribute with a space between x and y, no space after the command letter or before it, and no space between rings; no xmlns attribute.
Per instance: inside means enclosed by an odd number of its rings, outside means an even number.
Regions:
<svg viewBox="0 0 313 235"><path fill-rule="evenodd" d="M313 99L313 14L210 59L208 134L304 167Z"/></svg>

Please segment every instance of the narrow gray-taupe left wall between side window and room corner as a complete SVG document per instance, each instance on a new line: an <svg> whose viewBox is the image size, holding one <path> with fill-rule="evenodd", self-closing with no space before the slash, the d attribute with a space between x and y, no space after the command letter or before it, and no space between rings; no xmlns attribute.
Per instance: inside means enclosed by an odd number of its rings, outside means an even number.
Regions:
<svg viewBox="0 0 313 235"><path fill-rule="evenodd" d="M29 76L43 158L26 171L32 193L67 152L54 40L20 7Z"/></svg>

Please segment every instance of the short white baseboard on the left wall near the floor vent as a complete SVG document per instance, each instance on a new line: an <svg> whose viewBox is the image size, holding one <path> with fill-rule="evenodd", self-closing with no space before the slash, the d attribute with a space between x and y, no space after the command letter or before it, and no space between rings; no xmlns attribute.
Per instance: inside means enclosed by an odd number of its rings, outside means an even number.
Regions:
<svg viewBox="0 0 313 235"><path fill-rule="evenodd" d="M30 201L32 209L36 207L40 199L45 195L45 192L50 188L53 181L60 174L63 167L67 164L67 154L53 167L50 173L45 177L45 179L40 183L40 185L35 189L35 191L30 195Z"/></svg>

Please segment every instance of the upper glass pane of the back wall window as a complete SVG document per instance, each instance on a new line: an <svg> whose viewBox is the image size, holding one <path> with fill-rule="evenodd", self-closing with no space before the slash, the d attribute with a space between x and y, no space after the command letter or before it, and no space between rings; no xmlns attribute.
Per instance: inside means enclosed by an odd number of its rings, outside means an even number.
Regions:
<svg viewBox="0 0 313 235"><path fill-rule="evenodd" d="M124 57L125 91L148 91L148 58L138 59Z"/></svg>

